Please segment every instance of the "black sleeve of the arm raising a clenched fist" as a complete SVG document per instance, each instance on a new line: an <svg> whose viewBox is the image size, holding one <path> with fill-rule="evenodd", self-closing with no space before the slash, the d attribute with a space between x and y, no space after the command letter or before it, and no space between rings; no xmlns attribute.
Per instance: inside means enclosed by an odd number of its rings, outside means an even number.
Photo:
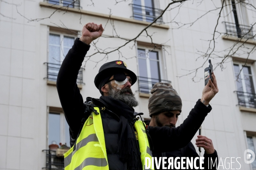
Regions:
<svg viewBox="0 0 256 170"><path fill-rule="evenodd" d="M72 138L76 138L84 117L84 100L76 79L90 45L77 38L62 62L57 77L57 90ZM89 114L88 114L89 116Z"/></svg>

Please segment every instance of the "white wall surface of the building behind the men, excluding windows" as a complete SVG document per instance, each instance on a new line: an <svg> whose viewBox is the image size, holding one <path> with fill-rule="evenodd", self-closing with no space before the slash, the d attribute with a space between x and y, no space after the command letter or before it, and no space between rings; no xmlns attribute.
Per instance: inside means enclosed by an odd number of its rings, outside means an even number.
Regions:
<svg viewBox="0 0 256 170"><path fill-rule="evenodd" d="M40 0L13 0L12 3L21 4L17 6L18 11L27 18L47 17L54 11L52 8L40 7ZM87 2L82 1L83 10L94 11L102 14L108 14L111 8L113 16L130 18L132 15L131 2L118 3L116 6L114 0L111 1L93 1L93 6L87 6ZM165 8L169 0L160 1L160 8ZM176 20L183 23L191 23L212 9L212 1L203 1L200 6L192 1L187 2L180 8L180 14ZM88 2L90 4L90 2ZM220 6L220 2L215 3ZM41 150L47 149L47 106L61 107L55 86L47 85L47 46L48 46L48 26L61 26L61 22L72 30L80 31L83 24L87 22L107 23L107 19L91 15L82 14L81 24L79 23L80 14L68 12L56 12L50 19L39 22L27 22L24 17L17 14L16 7L4 2L0 2L0 12L5 16L0 16L0 144L2 151L0 154L0 170L41 170L45 167L45 153ZM167 11L163 15L165 21L172 20L177 13L177 9ZM199 57L198 51L206 51L209 44L207 41L212 37L215 27L217 12L209 12L202 17L193 26L184 26L179 29L175 23L168 23L170 29L151 27L148 33L153 35L153 40L157 44L164 44L166 51L161 52L161 57L165 58L162 67L165 79L172 81L173 87L177 90L183 102L182 113L177 125L180 125L189 114L189 111L195 105L195 102L201 98L201 92L204 88L204 82L192 82L193 74L181 77L188 71L197 68L204 62ZM255 14L248 12L250 22L255 22ZM224 24L221 24L223 18L219 21L218 31L225 32ZM55 23L55 24L54 24ZM123 38L135 37L145 26L136 23L128 23L122 20L115 20L115 28L118 34ZM110 23L106 26L105 36L112 35ZM144 34L145 35L145 34ZM147 37L139 37L140 42L151 40ZM233 41L223 40L219 37L216 40L216 51L233 44ZM101 48L116 47L124 43L117 38L101 38L99 46ZM127 57L136 56L137 49L130 48L130 43L121 49L122 54ZM247 44L248 46L251 46ZM88 55L94 52L91 46ZM224 56L225 52L220 53ZM98 61L104 55L95 55L91 59ZM235 56L246 58L246 56ZM118 59L118 53L114 52L98 63L87 62L86 69L83 71L83 81L85 85L81 90L84 100L87 96L99 98L99 91L94 86L93 80L99 71L99 67L105 62ZM124 59L128 69L138 74L137 58ZM256 60L253 53L250 59ZM212 59L215 64L219 59ZM203 78L204 68L198 70L196 81ZM215 67L215 65L214 65ZM203 135L212 139L219 158L241 157L239 163L241 169L250 167L244 163L243 154L246 149L244 130L256 132L256 113L239 111L236 93L236 82L233 74L233 62L224 64L225 69L215 70L218 79L219 93L210 102L212 111L206 117L202 125ZM254 75L256 75L255 64L253 64ZM139 96L138 83L132 86L136 98L140 105L135 108L137 112L145 113L148 117L148 99ZM192 143L195 144L195 139ZM196 147L196 150L197 147ZM236 168L236 167L235 167Z"/></svg>

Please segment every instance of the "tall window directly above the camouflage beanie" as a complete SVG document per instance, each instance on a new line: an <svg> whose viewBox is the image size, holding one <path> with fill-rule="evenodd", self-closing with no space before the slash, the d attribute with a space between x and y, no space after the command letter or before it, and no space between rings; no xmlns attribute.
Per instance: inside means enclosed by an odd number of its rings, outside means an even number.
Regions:
<svg viewBox="0 0 256 170"><path fill-rule="evenodd" d="M139 91L141 93L150 93L153 85L156 82L168 82L161 79L160 69L160 51L151 51L147 48L139 48L138 63L139 63Z"/></svg>

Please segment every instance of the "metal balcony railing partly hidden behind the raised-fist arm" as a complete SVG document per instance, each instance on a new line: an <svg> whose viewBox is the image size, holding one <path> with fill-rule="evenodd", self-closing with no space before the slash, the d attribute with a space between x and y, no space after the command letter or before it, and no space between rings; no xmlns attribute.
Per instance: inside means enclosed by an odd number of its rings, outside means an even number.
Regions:
<svg viewBox="0 0 256 170"><path fill-rule="evenodd" d="M44 79L48 79L50 81L56 82L57 77L58 77L58 72L61 68L60 64L54 64L54 63L49 63L49 62L44 62L44 64L47 64L47 77ZM77 83L79 84L84 84L83 82L83 70L84 68L80 68L78 76L77 76Z"/></svg>

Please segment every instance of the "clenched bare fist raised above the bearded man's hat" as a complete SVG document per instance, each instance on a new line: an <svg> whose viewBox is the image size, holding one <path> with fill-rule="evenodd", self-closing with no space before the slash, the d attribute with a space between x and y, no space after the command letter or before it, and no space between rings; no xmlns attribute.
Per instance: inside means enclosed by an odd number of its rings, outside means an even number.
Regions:
<svg viewBox="0 0 256 170"><path fill-rule="evenodd" d="M82 29L82 36L79 40L89 45L93 40L102 36L103 31L102 24L87 23Z"/></svg>

